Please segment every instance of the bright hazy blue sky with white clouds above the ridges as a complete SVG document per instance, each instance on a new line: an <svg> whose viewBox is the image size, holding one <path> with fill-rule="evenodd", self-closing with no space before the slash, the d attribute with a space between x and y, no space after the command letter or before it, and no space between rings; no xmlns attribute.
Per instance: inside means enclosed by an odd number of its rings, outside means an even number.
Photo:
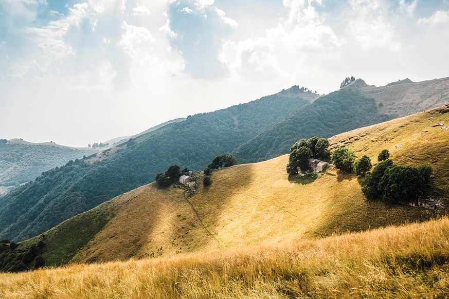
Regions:
<svg viewBox="0 0 449 299"><path fill-rule="evenodd" d="M86 146L350 76L449 77L449 0L0 0L0 139Z"/></svg>

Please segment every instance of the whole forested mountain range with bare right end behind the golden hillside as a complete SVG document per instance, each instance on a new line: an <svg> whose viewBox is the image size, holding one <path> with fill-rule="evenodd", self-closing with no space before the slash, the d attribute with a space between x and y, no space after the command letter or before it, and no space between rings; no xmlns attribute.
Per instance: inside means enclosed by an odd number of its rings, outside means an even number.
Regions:
<svg viewBox="0 0 449 299"><path fill-rule="evenodd" d="M410 102L400 94L424 97L427 92L429 98L423 101L428 105L448 102L444 87L448 81L407 82L382 88L367 87L362 80L355 80L321 97L293 86L253 102L161 126L117 147L47 171L0 198L0 238L24 240L38 235L153 181L154 175L170 164L199 171L223 153L234 153L244 163L262 161L287 153L301 138L331 137L397 117L398 111L391 108L395 105L405 105L409 113L417 113L423 109L421 102ZM430 92L433 89L429 86L442 91ZM376 90L375 99L364 96L368 89L372 94Z"/></svg>

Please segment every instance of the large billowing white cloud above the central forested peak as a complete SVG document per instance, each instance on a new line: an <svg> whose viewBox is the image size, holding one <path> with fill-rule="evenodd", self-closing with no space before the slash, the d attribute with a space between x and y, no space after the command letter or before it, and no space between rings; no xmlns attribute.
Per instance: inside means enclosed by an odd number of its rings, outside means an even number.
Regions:
<svg viewBox="0 0 449 299"><path fill-rule="evenodd" d="M298 70L335 59L342 46L314 5L320 2L284 0L289 18L265 31L264 36L242 42L227 41L221 59L238 76L248 80L291 80Z"/></svg>

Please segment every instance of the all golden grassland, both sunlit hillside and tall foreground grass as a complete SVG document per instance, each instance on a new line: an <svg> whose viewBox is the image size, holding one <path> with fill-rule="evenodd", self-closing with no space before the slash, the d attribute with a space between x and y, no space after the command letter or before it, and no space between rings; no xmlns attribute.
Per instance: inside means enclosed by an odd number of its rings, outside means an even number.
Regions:
<svg viewBox="0 0 449 299"><path fill-rule="evenodd" d="M447 207L449 130L432 127L449 125L447 110L340 134L331 147L346 145L373 164L387 148L397 164L432 165L433 195ZM335 170L289 179L287 162L214 171L212 185L187 199L152 183L66 220L45 233L47 248L66 259L49 250L46 260L100 264L0 274L0 298L449 294L446 209L367 201L355 176ZM90 240L67 245L94 223Z"/></svg>

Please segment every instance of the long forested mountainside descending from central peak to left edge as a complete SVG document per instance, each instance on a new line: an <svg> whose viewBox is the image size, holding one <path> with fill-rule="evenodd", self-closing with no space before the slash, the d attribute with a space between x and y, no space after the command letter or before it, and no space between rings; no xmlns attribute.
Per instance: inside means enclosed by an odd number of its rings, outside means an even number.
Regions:
<svg viewBox="0 0 449 299"><path fill-rule="evenodd" d="M189 116L131 139L103 161L91 165L75 160L47 171L0 198L0 238L20 241L38 235L153 181L171 164L202 170L213 157L231 152L309 104L303 97L311 98L311 93L295 86L246 104Z"/></svg>

